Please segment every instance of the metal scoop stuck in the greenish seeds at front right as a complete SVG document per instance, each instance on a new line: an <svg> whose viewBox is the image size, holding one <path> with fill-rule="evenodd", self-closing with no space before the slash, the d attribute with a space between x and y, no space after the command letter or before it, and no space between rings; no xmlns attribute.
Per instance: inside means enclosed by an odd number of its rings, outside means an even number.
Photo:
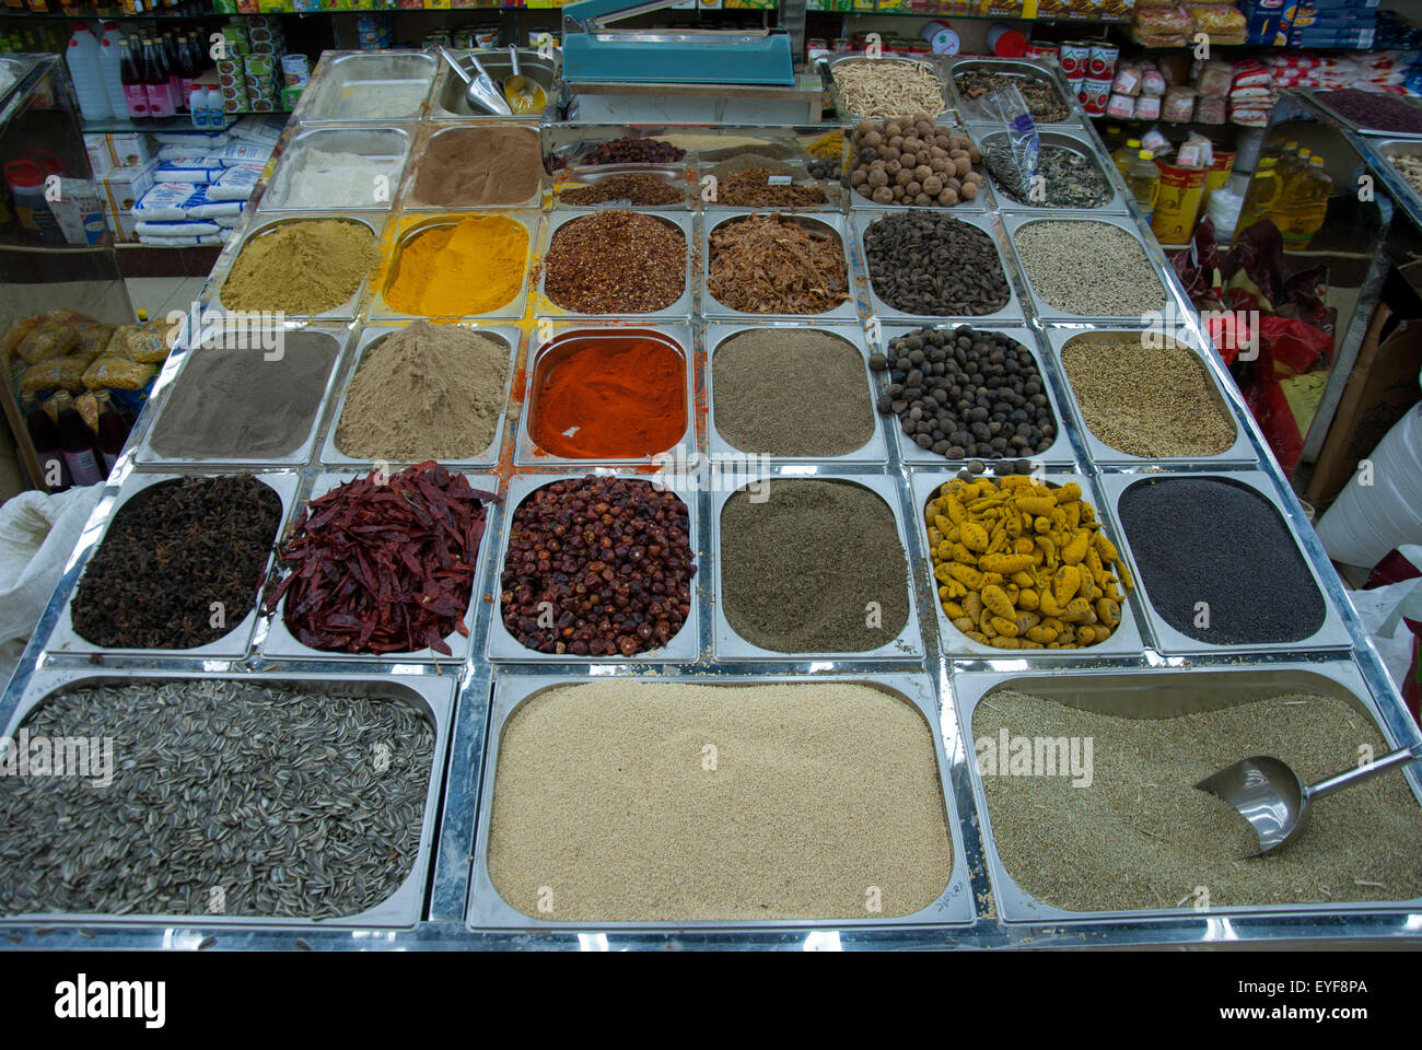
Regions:
<svg viewBox="0 0 1422 1050"><path fill-rule="evenodd" d="M1280 849L1303 835L1308 827L1308 804L1314 800L1372 780L1394 765L1405 765L1418 758L1422 758L1422 744L1404 747L1374 763L1335 773L1308 785L1287 763L1257 754L1226 765L1194 787L1223 798L1254 828L1254 834L1258 835L1258 852L1246 854L1249 859Z"/></svg>

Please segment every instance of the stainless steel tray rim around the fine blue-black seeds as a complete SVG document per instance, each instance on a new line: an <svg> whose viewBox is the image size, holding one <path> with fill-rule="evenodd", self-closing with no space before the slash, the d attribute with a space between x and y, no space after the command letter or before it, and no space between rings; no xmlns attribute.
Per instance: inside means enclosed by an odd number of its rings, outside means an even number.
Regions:
<svg viewBox="0 0 1422 1050"><path fill-rule="evenodd" d="M1233 472L1190 472L1190 474L1103 474L1099 478L1099 487L1102 495L1111 504L1111 514L1115 521L1121 522L1121 498L1125 495L1126 489L1136 484L1150 484L1153 481L1165 481L1170 478L1190 478L1194 481L1221 481L1231 485L1239 485L1250 492L1254 492L1261 499L1267 501L1270 507L1278 514L1280 522L1288 529L1290 535L1297 529L1297 525L1291 526L1288 519L1287 508L1280 502L1278 495L1274 492L1274 487L1270 482L1267 474L1260 471L1233 471ZM1202 509L1202 515L1206 514ZM1307 552L1297 545L1294 551L1298 555L1300 562L1307 566L1308 576L1314 583L1314 589L1318 592L1320 600L1324 603L1324 620L1313 635L1298 639L1297 642L1256 642L1256 643L1239 643L1239 645L1212 645L1209 642L1202 642L1199 639L1190 637L1183 632L1176 630L1165 617L1156 612L1155 605L1150 600L1150 593L1146 580L1140 575L1140 569L1135 559L1133 545L1130 536L1125 534L1123 528L1118 528L1116 535L1116 549L1121 551L1122 558L1130 566L1132 575L1136 578L1136 596L1143 606L1149 609L1150 627L1156 636L1156 647L1162 653L1167 654L1194 654L1194 653L1247 653L1247 652L1263 652L1263 653L1294 653L1294 652L1321 652L1327 649L1344 649L1347 650L1352 645L1352 639L1348 633L1348 627L1338 613L1337 606L1328 596L1328 589L1324 586L1322 578L1318 573L1318 566L1313 565L1308 559ZM1125 539L1126 542L1121 542Z"/></svg>

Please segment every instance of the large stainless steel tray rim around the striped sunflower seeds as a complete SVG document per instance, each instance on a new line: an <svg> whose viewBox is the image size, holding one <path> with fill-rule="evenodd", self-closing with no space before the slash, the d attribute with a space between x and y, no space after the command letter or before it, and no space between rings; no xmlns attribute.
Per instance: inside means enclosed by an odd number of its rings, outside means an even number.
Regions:
<svg viewBox="0 0 1422 1050"><path fill-rule="evenodd" d="M435 821L439 798L444 794L445 754L449 750L449 736L455 714L454 676L437 677L390 677L371 673L310 674L303 672L250 672L240 674L213 673L209 670L95 670L47 669L38 670L28 680L18 706L11 714L6 736L14 731L46 700L78 689L94 686L137 686L162 684L166 682L198 682L205 679L240 680L266 687L310 689L328 693L341 690L356 696L381 700L398 700L418 710L435 731L434 761L429 767L429 787L425 791L425 807L421 817L419 852L415 855L410 875L385 901L357 915L333 919L304 919L300 916L262 915L95 915L95 913L43 913L43 915L0 915L0 925L77 925L77 926L212 926L212 928L306 928L306 929L414 929L424 918L425 884L429 865L434 861ZM331 701L328 701L331 703ZM296 744L293 744L296 746ZM348 935L347 935L348 936Z"/></svg>

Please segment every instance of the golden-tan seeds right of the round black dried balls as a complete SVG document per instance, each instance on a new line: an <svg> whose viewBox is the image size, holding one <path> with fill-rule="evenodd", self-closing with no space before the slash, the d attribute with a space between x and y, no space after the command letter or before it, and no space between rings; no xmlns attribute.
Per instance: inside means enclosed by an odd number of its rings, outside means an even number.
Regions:
<svg viewBox="0 0 1422 1050"><path fill-rule="evenodd" d="M1160 346L1156 346L1160 343ZM1091 433L1146 458L1219 455L1234 444L1234 420L1209 370L1165 340L1075 340L1062 367Z"/></svg>

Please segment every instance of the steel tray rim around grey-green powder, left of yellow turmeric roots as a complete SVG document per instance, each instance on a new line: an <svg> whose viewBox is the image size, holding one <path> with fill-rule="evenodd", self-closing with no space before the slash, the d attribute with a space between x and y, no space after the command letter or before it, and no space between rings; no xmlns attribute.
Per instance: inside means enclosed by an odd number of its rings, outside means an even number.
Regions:
<svg viewBox="0 0 1422 1050"><path fill-rule="evenodd" d="M721 546L721 514L727 501L744 488L751 489L751 502L766 502L775 499L775 487L788 481L828 481L833 484L859 485L877 495L893 514L894 531L899 535L899 546L903 549L904 562L909 565L906 573L909 619L894 637L875 649L865 649L849 653L781 653L774 649L762 649L748 642L737 633L735 627L725 616L725 603L721 599L722 576L725 571L725 553ZM754 487L761 485L765 499L757 498ZM747 479L745 485L735 491L712 492L711 495L711 549L715 562L715 598L711 602L715 615L715 654L720 660L913 660L923 656L923 632L919 626L919 600L913 589L913 558L909 553L909 536L903 524L903 507L899 502L899 487L892 478L879 474L836 474L833 477L771 477L761 475ZM835 558L835 552L825 551L825 558ZM867 610L866 610L867 612Z"/></svg>

